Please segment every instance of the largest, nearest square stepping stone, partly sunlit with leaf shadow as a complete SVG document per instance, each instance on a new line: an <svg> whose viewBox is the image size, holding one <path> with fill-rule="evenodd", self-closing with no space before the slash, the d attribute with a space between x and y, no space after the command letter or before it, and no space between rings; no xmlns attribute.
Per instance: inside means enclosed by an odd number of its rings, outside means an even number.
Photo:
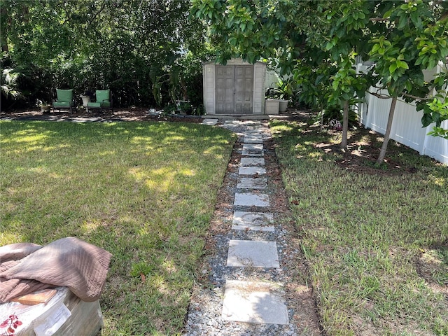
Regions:
<svg viewBox="0 0 448 336"><path fill-rule="evenodd" d="M235 281L225 283L225 321L288 324L288 308L279 283Z"/></svg>

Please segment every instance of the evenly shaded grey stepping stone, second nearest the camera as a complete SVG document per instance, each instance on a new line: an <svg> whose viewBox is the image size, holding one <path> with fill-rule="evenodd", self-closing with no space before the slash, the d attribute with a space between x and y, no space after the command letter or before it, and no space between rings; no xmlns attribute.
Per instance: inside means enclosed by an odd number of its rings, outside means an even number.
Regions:
<svg viewBox="0 0 448 336"><path fill-rule="evenodd" d="M279 268L279 254L275 241L229 241L228 267Z"/></svg>

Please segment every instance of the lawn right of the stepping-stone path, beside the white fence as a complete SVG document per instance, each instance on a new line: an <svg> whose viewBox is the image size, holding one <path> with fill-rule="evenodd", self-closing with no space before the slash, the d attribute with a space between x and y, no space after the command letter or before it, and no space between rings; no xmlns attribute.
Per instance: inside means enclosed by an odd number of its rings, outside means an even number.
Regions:
<svg viewBox="0 0 448 336"><path fill-rule="evenodd" d="M332 134L271 127L327 335L448 335L448 168L391 141L398 170L344 169Z"/></svg>

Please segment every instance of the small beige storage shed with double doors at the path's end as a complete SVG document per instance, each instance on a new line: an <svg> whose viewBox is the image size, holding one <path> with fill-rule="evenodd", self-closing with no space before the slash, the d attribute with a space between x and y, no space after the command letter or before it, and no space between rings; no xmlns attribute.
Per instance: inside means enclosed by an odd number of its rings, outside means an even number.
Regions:
<svg viewBox="0 0 448 336"><path fill-rule="evenodd" d="M266 64L230 59L203 65L204 106L209 115L265 114Z"/></svg>

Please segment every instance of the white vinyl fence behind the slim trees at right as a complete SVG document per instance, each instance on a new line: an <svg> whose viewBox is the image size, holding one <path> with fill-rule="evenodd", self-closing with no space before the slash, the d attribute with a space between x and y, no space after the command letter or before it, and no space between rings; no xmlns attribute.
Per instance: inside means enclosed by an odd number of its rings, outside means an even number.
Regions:
<svg viewBox="0 0 448 336"><path fill-rule="evenodd" d="M368 66L358 64L358 72L365 71ZM436 73L441 71L441 64L433 71L426 71L425 80L430 80ZM371 90L374 90L371 88ZM379 92L386 94L387 92ZM367 93L366 102L355 106L360 122L375 132L386 133L388 112L392 99L381 99ZM415 104L409 104L402 100L397 101L395 114L393 116L391 139L405 144L418 151L420 155L428 155L430 158L448 165L448 140L433 137L428 134L434 125L422 127L421 117L423 112L416 111ZM448 129L448 120L442 123L444 129Z"/></svg>

